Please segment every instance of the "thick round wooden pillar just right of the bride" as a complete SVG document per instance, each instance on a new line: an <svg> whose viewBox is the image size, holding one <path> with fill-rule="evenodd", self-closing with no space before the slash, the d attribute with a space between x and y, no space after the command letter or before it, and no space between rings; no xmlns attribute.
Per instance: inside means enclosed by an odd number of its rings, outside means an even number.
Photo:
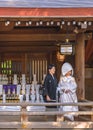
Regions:
<svg viewBox="0 0 93 130"><path fill-rule="evenodd" d="M84 33L79 33L76 36L75 50L75 73L78 85L78 99L85 98L85 38Z"/></svg>

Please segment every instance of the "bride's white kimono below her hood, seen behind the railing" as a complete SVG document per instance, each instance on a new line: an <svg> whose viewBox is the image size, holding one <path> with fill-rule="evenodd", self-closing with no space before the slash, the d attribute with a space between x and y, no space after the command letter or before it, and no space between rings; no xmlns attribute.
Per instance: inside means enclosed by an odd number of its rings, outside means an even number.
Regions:
<svg viewBox="0 0 93 130"><path fill-rule="evenodd" d="M60 92L60 102L61 103L77 103L77 95L76 95L77 84L75 82L74 77L72 76L63 76L61 77L58 90ZM66 93L67 90L70 92ZM78 106L61 106L60 110L62 111L78 111ZM74 116L70 114L65 114L64 116L68 117L70 120L74 120Z"/></svg>

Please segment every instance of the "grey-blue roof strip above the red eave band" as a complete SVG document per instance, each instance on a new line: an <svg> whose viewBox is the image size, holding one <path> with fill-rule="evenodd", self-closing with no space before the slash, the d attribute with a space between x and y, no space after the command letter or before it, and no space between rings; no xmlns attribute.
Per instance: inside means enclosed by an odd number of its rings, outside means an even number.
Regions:
<svg viewBox="0 0 93 130"><path fill-rule="evenodd" d="M0 7L28 7L28 8L93 7L93 0L0 0Z"/></svg>

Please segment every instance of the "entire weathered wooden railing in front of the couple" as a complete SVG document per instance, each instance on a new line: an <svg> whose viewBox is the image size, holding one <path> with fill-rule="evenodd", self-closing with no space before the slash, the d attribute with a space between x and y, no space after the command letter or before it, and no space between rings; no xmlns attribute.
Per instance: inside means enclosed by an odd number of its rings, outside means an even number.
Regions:
<svg viewBox="0 0 93 130"><path fill-rule="evenodd" d="M48 111L27 111L27 106L60 106L60 105L70 105L70 106L81 106L81 107L89 107L89 110L80 110L78 112L62 112L58 109L49 109ZM78 102L78 103L0 103L0 106L21 106L20 111L0 111L0 117L5 116L19 116L20 121L2 121L0 122L0 129L60 129L60 128L93 128L93 102ZM82 116L90 116L90 121L64 121L64 114L72 114L72 115L82 115ZM30 116L56 116L55 121L29 121Z"/></svg>

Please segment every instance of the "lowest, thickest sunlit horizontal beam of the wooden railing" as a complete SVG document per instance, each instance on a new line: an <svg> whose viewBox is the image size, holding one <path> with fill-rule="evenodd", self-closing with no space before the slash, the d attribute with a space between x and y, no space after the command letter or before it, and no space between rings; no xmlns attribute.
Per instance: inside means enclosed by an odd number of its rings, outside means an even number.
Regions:
<svg viewBox="0 0 93 130"><path fill-rule="evenodd" d="M93 128L93 122L0 122L0 129L1 128Z"/></svg>

